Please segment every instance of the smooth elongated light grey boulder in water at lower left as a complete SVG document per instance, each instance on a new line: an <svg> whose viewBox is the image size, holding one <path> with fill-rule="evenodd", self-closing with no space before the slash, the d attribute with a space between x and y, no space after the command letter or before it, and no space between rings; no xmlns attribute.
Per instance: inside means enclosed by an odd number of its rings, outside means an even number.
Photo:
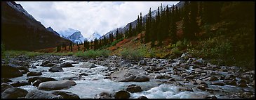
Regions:
<svg viewBox="0 0 256 100"><path fill-rule="evenodd" d="M62 81L47 81L39 84L39 90L61 90L63 88L70 88L76 85L74 81L62 80Z"/></svg>

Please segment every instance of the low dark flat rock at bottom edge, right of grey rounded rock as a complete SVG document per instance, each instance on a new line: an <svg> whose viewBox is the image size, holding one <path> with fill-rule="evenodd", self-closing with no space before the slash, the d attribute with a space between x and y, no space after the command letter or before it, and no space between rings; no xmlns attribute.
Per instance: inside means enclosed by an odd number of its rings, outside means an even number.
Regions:
<svg viewBox="0 0 256 100"><path fill-rule="evenodd" d="M74 94L72 92L65 92L65 91L55 90L51 93L55 94L55 95L60 95L60 96L63 97L63 99L80 99L80 97L77 94Z"/></svg>

